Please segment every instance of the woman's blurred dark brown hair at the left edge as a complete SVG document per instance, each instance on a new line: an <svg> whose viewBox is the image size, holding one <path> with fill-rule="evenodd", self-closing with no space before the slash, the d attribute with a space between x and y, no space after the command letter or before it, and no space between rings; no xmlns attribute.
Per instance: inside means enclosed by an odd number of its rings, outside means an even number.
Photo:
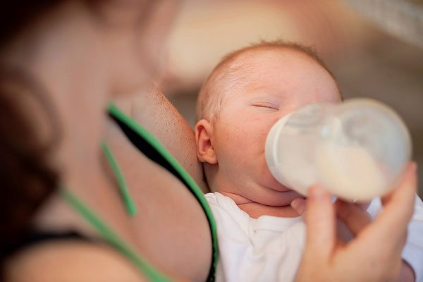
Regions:
<svg viewBox="0 0 423 282"><path fill-rule="evenodd" d="M63 1L5 2L0 50ZM34 108L36 115L30 114ZM38 131L43 121L47 137ZM58 187L59 173L49 161L60 139L58 123L44 87L29 73L0 63L0 274L8 255L30 232L37 209Z"/></svg>

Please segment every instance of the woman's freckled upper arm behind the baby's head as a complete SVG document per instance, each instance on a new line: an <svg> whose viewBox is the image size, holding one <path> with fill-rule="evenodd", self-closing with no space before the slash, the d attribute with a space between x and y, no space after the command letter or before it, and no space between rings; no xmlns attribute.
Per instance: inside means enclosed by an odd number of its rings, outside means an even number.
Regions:
<svg viewBox="0 0 423 282"><path fill-rule="evenodd" d="M185 168L203 192L209 192L202 165L197 161L195 138L190 125L157 87L150 85L134 94L120 95L114 102L161 142Z"/></svg>

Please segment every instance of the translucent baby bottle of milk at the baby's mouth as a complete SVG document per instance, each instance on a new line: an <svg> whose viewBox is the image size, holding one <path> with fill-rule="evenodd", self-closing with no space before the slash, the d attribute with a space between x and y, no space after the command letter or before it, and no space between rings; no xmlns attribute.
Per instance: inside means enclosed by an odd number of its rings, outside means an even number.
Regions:
<svg viewBox="0 0 423 282"><path fill-rule="evenodd" d="M266 162L288 188L307 195L321 183L344 200L389 192L407 166L410 133L388 106L372 99L309 104L283 116L266 139Z"/></svg>

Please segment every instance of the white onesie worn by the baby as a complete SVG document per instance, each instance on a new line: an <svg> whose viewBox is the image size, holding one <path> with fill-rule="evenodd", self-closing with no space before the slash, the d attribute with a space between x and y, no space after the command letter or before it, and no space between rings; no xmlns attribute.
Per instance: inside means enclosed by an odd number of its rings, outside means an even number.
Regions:
<svg viewBox="0 0 423 282"><path fill-rule="evenodd" d="M219 192L204 195L216 220L219 263L216 281L293 281L305 246L302 217L260 216L252 219L230 197ZM370 204L372 216L380 200ZM403 258L423 282L423 204L416 198ZM387 234L388 235L388 234Z"/></svg>

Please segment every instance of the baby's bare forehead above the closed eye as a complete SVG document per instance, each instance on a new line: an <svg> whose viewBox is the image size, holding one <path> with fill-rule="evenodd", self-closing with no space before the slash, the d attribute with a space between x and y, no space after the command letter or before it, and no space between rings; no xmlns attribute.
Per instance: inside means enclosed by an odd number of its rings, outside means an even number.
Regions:
<svg viewBox="0 0 423 282"><path fill-rule="evenodd" d="M296 89L305 77L316 80L316 85L338 90L331 72L313 56L288 47L259 47L247 49L226 61L220 70L217 87L225 97L250 91L283 92ZM283 80L283 84L281 81ZM294 88L293 88L294 87ZM341 94L338 94L341 96Z"/></svg>

